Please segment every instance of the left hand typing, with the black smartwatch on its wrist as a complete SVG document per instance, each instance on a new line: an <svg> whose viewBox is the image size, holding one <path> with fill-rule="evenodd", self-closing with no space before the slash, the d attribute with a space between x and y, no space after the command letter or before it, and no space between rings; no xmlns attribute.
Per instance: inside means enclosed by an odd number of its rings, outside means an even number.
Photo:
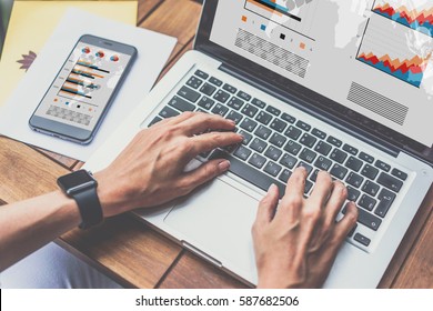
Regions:
<svg viewBox="0 0 433 311"><path fill-rule="evenodd" d="M190 172L184 169L201 152L242 142L242 136L230 132L234 127L219 116L184 112L142 130L95 173L103 215L169 202L226 171L226 160L212 160ZM203 133L209 129L224 132Z"/></svg>

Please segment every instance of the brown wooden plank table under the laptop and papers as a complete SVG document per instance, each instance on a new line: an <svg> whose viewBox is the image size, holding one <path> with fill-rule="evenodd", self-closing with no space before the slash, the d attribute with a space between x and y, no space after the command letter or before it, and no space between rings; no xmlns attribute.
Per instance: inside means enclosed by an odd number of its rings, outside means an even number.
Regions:
<svg viewBox="0 0 433 311"><path fill-rule="evenodd" d="M141 0L138 24L179 39L163 76L192 48L201 3ZM0 137L0 204L57 189L56 179L81 162ZM433 188L394 255L380 288L433 288ZM414 207L415 208L415 207ZM159 233L120 215L90 231L72 230L58 243L131 288L244 288Z"/></svg>

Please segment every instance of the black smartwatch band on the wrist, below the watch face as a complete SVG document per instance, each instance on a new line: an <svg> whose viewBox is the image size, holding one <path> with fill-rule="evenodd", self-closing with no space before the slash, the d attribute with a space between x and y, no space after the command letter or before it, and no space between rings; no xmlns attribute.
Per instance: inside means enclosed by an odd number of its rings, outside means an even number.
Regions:
<svg viewBox="0 0 433 311"><path fill-rule="evenodd" d="M81 229L88 229L102 221L102 208L99 202L97 188L89 188L71 195L80 210Z"/></svg>

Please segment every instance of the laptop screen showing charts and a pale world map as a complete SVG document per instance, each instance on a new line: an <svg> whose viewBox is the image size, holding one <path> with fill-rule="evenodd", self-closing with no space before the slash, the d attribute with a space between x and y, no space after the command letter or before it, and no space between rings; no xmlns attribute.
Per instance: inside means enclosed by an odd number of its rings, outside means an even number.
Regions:
<svg viewBox="0 0 433 311"><path fill-rule="evenodd" d="M220 0L210 41L433 144L431 0Z"/></svg>

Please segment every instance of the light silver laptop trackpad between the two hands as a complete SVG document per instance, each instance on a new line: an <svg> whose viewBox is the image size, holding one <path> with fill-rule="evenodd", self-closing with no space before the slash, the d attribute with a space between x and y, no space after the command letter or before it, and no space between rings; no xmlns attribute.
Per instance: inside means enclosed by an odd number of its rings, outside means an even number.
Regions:
<svg viewBox="0 0 433 311"><path fill-rule="evenodd" d="M177 204L164 222L179 232L181 240L251 281L255 278L251 227L258 204L216 179Z"/></svg>

